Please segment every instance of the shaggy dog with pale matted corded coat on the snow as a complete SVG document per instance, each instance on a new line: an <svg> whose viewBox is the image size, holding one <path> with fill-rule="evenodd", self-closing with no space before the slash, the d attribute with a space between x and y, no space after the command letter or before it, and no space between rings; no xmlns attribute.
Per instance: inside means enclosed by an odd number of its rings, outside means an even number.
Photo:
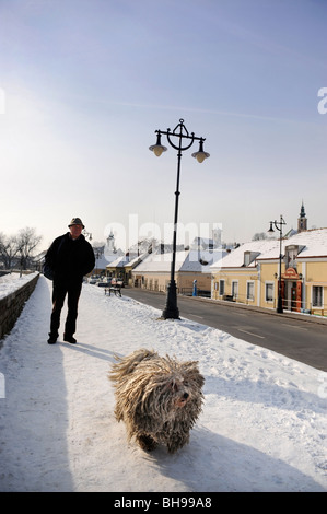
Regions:
<svg viewBox="0 0 327 514"><path fill-rule="evenodd" d="M115 383L117 421L125 421L129 440L147 451L157 444L174 453L189 442L203 401L205 378L196 361L179 362L140 349L117 358L109 373Z"/></svg>

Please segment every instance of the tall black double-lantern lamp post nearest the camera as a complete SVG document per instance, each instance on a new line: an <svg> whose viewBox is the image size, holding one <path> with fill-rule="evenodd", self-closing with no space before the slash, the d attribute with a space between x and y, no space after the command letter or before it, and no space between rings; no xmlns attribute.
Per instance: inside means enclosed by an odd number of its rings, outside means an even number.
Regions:
<svg viewBox="0 0 327 514"><path fill-rule="evenodd" d="M192 157L197 159L199 163L203 162L205 159L209 157L209 153L203 151L205 138L197 138L194 132L189 135L188 130L184 125L184 119L179 119L179 124L176 125L174 130L167 129L155 130L156 143L149 148L154 154L160 155L167 149L161 143L162 135L167 137L167 141L175 150L177 150L177 183L175 191L175 214L174 214L174 236L173 236L173 258L171 265L171 281L167 287L167 299L166 305L162 313L163 319L179 319L179 311L177 307L177 288L175 282L175 262L176 262L176 240L177 240L177 219L178 219L178 200L179 200L179 174L180 174L180 160L182 152L188 150L195 141L199 141L199 151L191 154ZM177 144L175 144L175 141Z"/></svg>

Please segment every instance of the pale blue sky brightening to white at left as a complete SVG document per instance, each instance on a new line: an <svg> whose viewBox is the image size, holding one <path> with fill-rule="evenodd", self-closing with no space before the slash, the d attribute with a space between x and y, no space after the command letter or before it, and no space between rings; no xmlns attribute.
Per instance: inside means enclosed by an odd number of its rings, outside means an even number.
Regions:
<svg viewBox="0 0 327 514"><path fill-rule="evenodd" d="M0 232L170 238L177 152L149 147L180 118L210 153L183 154L180 224L246 242L303 200L326 227L326 0L0 0Z"/></svg>

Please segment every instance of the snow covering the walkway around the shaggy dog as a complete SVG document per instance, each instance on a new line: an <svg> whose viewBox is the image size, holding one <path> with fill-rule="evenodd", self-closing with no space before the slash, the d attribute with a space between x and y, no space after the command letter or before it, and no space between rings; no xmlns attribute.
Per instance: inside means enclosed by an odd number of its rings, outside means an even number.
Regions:
<svg viewBox="0 0 327 514"><path fill-rule="evenodd" d="M78 344L49 346L50 293L42 276L0 349L1 491L327 491L326 374L90 284ZM198 360L206 378L174 455L128 443L114 418L114 353L141 347Z"/></svg>

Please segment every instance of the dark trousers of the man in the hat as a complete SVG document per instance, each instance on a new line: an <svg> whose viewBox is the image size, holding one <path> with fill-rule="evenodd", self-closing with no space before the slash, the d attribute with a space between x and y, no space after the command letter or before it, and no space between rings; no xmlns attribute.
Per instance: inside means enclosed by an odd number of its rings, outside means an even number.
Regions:
<svg viewBox="0 0 327 514"><path fill-rule="evenodd" d="M60 326L60 314L67 294L68 313L65 324L65 335L72 336L77 329L78 305L81 294L82 283L61 283L54 281L52 289L52 313L50 323L50 332L58 337Z"/></svg>

